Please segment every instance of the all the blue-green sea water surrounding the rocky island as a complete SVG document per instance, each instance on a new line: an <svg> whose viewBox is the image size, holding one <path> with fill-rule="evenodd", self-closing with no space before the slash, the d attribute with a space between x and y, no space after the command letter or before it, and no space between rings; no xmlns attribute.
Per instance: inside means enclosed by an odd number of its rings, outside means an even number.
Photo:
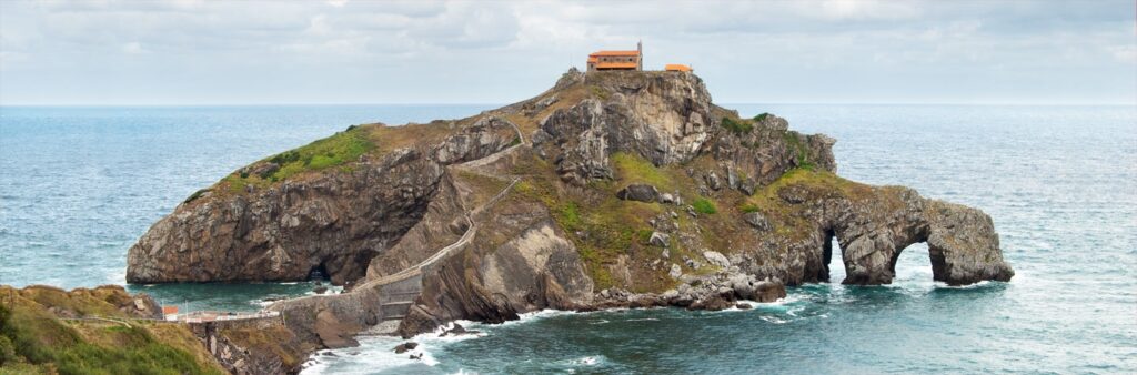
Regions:
<svg viewBox="0 0 1137 375"><path fill-rule="evenodd" d="M0 107L0 283L123 283L125 252L186 195L351 124L496 106ZM542 311L424 360L365 338L310 373L1137 373L1137 107L737 105L825 133L839 173L991 215L1010 283L931 281L924 245L887 286L818 284L753 310ZM843 272L833 265L839 280ZM255 309L298 283L132 285Z"/></svg>

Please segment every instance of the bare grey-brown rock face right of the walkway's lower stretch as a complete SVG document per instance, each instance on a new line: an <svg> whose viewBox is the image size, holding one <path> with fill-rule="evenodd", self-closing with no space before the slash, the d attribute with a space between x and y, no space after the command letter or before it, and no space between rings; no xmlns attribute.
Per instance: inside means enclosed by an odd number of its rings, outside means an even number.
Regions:
<svg viewBox="0 0 1137 375"><path fill-rule="evenodd" d="M404 338L453 319L501 323L518 312L573 309L587 303L592 281L576 248L542 207L507 202L488 215L501 218L479 236L466 256L426 272L423 292L402 319ZM491 238L512 240L493 244ZM487 241L489 240L489 241Z"/></svg>

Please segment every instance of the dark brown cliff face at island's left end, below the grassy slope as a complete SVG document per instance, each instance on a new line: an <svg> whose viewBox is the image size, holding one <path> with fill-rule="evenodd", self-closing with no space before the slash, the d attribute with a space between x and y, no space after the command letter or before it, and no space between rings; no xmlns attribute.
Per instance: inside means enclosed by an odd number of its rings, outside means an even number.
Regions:
<svg viewBox="0 0 1137 375"><path fill-rule="evenodd" d="M420 222L446 165L495 153L514 138L511 123L490 117L438 144L364 156L350 173L189 201L131 247L126 280L300 281L314 272L335 284L357 280Z"/></svg>

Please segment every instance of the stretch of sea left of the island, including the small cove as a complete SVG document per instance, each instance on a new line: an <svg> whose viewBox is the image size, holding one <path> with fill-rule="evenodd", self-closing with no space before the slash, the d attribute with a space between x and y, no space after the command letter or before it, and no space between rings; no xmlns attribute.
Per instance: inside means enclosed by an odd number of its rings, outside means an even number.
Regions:
<svg viewBox="0 0 1137 375"><path fill-rule="evenodd" d="M0 284L125 284L126 249L191 193L349 125L484 106L0 107ZM297 284L131 285L191 309L256 310Z"/></svg>

